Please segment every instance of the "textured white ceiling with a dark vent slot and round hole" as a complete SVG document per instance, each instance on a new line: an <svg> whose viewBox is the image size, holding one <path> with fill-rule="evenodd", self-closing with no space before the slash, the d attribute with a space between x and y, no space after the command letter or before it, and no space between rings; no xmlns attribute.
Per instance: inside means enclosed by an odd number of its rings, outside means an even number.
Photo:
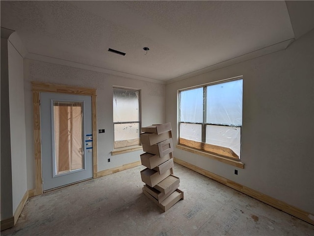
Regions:
<svg viewBox="0 0 314 236"><path fill-rule="evenodd" d="M1 0L1 27L27 58L161 81L295 38L285 1Z"/></svg>

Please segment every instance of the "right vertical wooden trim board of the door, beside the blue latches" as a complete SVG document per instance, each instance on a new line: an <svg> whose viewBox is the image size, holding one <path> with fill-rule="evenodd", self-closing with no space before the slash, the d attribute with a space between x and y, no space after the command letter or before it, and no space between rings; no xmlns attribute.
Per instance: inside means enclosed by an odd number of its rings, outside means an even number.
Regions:
<svg viewBox="0 0 314 236"><path fill-rule="evenodd" d="M93 179L97 178L98 157L97 157L97 103L96 95L92 96L92 123L93 123Z"/></svg>

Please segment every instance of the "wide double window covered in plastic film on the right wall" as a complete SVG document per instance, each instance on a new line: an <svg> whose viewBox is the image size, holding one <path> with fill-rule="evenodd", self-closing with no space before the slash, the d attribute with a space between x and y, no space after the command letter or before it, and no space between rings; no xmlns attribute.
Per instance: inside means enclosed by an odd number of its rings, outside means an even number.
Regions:
<svg viewBox="0 0 314 236"><path fill-rule="evenodd" d="M179 91L179 143L240 159L243 80Z"/></svg>

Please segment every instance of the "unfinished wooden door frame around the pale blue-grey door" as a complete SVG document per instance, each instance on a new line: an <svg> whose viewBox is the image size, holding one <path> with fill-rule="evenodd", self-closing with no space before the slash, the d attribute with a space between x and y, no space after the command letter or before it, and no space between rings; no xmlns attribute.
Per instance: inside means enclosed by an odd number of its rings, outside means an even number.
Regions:
<svg viewBox="0 0 314 236"><path fill-rule="evenodd" d="M33 93L33 129L34 129L34 157L35 157L35 191L34 195L43 193L41 131L40 131L40 92L85 95L92 98L92 129L93 129L93 179L97 178L97 115L96 89L76 86L31 82Z"/></svg>

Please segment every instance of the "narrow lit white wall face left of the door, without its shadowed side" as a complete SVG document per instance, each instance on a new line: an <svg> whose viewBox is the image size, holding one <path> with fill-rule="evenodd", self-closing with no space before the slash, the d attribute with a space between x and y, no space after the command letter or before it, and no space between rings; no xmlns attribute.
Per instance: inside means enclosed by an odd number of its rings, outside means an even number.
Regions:
<svg viewBox="0 0 314 236"><path fill-rule="evenodd" d="M27 191L23 57L8 42L13 212Z"/></svg>

